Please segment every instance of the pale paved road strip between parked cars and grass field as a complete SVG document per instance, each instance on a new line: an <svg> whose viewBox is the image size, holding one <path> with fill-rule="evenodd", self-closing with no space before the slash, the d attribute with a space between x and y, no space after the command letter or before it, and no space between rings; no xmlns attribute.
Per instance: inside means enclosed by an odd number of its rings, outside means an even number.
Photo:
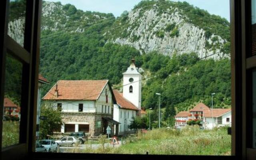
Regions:
<svg viewBox="0 0 256 160"><path fill-rule="evenodd" d="M114 147L120 147L122 146L122 141L118 141L119 144L114 144ZM124 143L124 142L123 142ZM97 149L101 146L102 144L79 144L76 147L72 147L72 146L61 146L59 147L59 152L71 152L72 149L76 149L76 150L85 150L86 148L92 148L92 149ZM104 147L113 147L113 144L110 143L105 143Z"/></svg>

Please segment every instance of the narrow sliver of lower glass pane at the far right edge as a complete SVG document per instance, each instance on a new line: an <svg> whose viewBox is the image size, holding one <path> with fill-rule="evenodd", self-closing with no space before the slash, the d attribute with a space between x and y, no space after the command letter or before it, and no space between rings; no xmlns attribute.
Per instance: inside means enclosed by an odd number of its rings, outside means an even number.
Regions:
<svg viewBox="0 0 256 160"><path fill-rule="evenodd" d="M252 72L252 147L256 148L256 70Z"/></svg>

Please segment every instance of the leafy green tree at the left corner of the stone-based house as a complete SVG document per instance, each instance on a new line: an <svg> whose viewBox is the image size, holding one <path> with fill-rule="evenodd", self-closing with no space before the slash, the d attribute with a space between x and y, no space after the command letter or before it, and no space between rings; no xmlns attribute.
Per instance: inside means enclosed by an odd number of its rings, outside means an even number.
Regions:
<svg viewBox="0 0 256 160"><path fill-rule="evenodd" d="M40 120L39 135L42 139L47 139L48 135L53 135L53 131L63 124L61 112L52 101L44 101L41 105L41 116L46 116L47 120Z"/></svg>

